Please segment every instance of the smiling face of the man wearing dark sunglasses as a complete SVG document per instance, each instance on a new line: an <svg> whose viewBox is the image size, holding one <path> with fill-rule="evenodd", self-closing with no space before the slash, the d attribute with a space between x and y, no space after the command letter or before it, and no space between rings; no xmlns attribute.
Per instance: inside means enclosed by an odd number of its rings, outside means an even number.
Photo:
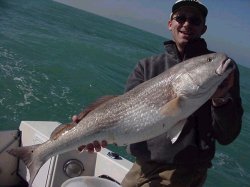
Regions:
<svg viewBox="0 0 250 187"><path fill-rule="evenodd" d="M175 12L168 22L168 28L176 44L182 47L190 40L200 38L207 29L201 13L193 7L182 7Z"/></svg>

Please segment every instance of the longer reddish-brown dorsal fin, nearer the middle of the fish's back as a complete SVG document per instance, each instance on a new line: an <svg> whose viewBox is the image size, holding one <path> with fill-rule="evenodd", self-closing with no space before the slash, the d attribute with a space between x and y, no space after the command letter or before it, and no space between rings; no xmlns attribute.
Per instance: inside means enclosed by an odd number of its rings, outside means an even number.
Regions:
<svg viewBox="0 0 250 187"><path fill-rule="evenodd" d="M83 119L85 116L87 116L87 114L89 112L91 112L92 110L94 110L95 108L100 106L101 104L103 104L103 103L107 102L108 100L113 99L115 97L117 97L117 96L107 95L107 96L100 97L95 102L93 102L88 107L86 107L80 114L78 114L77 118L79 119L79 121L81 121L81 119Z"/></svg>

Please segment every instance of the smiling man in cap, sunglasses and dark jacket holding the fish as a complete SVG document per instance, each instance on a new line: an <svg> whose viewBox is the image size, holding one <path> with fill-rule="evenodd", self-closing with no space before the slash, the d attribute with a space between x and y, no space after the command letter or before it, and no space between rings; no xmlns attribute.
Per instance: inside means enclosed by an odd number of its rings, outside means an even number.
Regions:
<svg viewBox="0 0 250 187"><path fill-rule="evenodd" d="M201 38L207 29L207 14L207 8L199 1L177 1L168 22L173 41L164 43L165 53L143 59L137 64L128 79L126 91L183 60L212 53ZM122 186L202 186L215 154L215 142L226 145L238 136L242 114L239 72L236 68L213 98L188 118L177 142L172 144L163 134L129 146L136 162ZM78 120L73 117L73 121ZM105 141L102 146L106 146ZM89 151L94 148L99 151L100 143L94 142L85 147Z"/></svg>

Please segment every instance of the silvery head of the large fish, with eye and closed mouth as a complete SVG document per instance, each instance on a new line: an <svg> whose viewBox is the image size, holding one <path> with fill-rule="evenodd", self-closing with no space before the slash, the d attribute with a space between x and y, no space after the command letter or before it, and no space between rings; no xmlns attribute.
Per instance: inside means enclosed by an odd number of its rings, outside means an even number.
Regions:
<svg viewBox="0 0 250 187"><path fill-rule="evenodd" d="M212 53L183 62L182 92L211 97L222 81L233 71L235 63L224 53ZM183 81L183 80L182 80ZM207 94L205 94L207 93Z"/></svg>

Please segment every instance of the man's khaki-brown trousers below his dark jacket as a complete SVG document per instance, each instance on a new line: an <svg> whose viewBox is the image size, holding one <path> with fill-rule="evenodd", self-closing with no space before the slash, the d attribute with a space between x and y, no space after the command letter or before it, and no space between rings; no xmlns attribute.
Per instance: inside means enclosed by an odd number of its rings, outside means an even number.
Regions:
<svg viewBox="0 0 250 187"><path fill-rule="evenodd" d="M135 163L122 181L122 187L202 187L207 168L169 168L162 164Z"/></svg>

